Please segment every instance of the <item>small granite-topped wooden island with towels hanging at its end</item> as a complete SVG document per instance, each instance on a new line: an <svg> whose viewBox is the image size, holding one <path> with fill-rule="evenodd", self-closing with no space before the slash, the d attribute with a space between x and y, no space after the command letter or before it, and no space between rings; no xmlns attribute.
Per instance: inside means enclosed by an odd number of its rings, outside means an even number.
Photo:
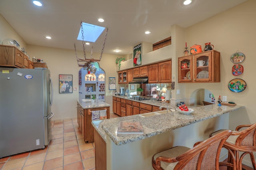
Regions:
<svg viewBox="0 0 256 170"><path fill-rule="evenodd" d="M91 102L91 100L77 100L77 123L85 142L94 142L94 127L92 126L92 111L106 110L107 119L110 118L110 105L105 102Z"/></svg>

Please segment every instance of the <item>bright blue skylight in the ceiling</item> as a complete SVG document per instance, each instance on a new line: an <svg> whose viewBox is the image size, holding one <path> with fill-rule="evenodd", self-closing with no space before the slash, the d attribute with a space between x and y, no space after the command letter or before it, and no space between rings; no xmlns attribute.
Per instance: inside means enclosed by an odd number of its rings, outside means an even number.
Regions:
<svg viewBox="0 0 256 170"><path fill-rule="evenodd" d="M89 41L89 42L95 42L100 34L104 31L105 27L100 27L97 25L92 25L90 23L84 23L83 22L83 30L84 30L84 41ZM83 40L82 39L82 32L81 32L81 27L78 33L78 40Z"/></svg>

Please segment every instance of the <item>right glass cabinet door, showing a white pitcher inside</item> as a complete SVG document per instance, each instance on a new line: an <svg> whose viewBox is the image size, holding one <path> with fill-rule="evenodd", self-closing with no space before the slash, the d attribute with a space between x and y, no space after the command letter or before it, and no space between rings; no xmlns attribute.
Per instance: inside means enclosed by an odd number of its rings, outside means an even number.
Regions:
<svg viewBox="0 0 256 170"><path fill-rule="evenodd" d="M199 53L194 55L194 81L211 82L212 81L212 55L208 53Z"/></svg>

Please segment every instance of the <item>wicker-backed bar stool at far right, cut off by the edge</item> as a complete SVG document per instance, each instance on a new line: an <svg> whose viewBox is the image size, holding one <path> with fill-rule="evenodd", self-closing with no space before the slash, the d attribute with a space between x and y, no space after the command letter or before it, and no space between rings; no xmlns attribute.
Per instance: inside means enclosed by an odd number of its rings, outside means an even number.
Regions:
<svg viewBox="0 0 256 170"><path fill-rule="evenodd" d="M246 129L244 129L246 128ZM210 137L224 131L219 130L212 134ZM235 162L238 170L242 170L242 159L246 154L250 154L250 158L252 161L253 169L256 170L256 164L253 152L256 152L256 123L251 125L239 125L236 127L236 130L233 131L232 135L228 137L226 142L223 145L224 148L230 149L235 155L235 159L230 157L230 153L228 154L228 162ZM244 152L239 157L239 152Z"/></svg>

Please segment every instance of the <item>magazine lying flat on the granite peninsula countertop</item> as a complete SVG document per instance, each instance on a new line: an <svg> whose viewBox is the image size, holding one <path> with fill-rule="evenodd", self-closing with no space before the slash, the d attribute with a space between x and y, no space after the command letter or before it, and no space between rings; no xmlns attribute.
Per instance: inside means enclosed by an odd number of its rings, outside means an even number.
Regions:
<svg viewBox="0 0 256 170"><path fill-rule="evenodd" d="M117 134L143 134L144 130L140 121L120 121Z"/></svg>

